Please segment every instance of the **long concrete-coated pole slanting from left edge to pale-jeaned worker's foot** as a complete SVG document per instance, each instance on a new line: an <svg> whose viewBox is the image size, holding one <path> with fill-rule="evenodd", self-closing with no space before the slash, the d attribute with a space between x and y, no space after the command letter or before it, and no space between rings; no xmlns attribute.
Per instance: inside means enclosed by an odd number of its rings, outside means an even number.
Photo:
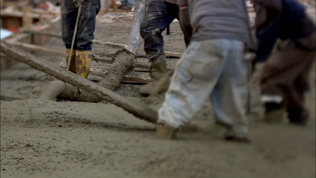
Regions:
<svg viewBox="0 0 316 178"><path fill-rule="evenodd" d="M42 71L63 82L66 82L74 87L77 87L82 91L85 91L93 95L94 97L100 97L104 100L107 100L139 119L154 124L157 123L158 112L140 102L131 101L85 78L78 77L77 74L74 74L70 71L66 71L65 69L62 69L49 61L40 60L37 58L37 56L29 52L20 50L2 41L0 42L0 51L8 56L11 56L16 60L28 64L29 66L39 71Z"/></svg>

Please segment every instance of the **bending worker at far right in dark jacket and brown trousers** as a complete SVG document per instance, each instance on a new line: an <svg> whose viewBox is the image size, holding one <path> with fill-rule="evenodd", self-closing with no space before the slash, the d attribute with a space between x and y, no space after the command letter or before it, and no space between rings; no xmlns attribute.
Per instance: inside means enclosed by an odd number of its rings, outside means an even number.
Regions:
<svg viewBox="0 0 316 178"><path fill-rule="evenodd" d="M315 23L297 0L253 0L257 11L258 50L254 62L264 62L261 76L265 121L285 118L297 125L307 123L304 95L315 62ZM276 40L276 50L272 52Z"/></svg>

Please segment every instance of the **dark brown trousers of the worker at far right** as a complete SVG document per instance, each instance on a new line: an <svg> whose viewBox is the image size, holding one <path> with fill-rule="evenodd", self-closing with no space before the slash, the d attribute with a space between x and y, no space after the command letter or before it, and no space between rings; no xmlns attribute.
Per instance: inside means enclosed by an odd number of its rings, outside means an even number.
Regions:
<svg viewBox="0 0 316 178"><path fill-rule="evenodd" d="M305 111L304 95L309 89L309 75L315 62L315 41L315 33L303 39L301 45L291 40L282 41L263 69L262 101L283 101L289 119L300 118Z"/></svg>

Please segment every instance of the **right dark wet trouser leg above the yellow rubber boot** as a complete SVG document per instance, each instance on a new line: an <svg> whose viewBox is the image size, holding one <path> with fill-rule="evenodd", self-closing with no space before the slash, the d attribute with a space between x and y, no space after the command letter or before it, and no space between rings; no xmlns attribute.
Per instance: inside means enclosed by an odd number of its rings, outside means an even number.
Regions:
<svg viewBox="0 0 316 178"><path fill-rule="evenodd" d="M77 46L79 51L92 50L96 15L99 13L100 8L100 0L85 0L82 2L77 34Z"/></svg>

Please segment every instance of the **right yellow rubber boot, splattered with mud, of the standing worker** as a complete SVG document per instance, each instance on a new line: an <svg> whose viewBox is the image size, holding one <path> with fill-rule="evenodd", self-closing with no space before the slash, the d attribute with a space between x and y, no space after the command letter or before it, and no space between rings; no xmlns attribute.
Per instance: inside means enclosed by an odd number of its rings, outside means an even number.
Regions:
<svg viewBox="0 0 316 178"><path fill-rule="evenodd" d="M91 51L76 51L76 74L88 78L91 66Z"/></svg>

